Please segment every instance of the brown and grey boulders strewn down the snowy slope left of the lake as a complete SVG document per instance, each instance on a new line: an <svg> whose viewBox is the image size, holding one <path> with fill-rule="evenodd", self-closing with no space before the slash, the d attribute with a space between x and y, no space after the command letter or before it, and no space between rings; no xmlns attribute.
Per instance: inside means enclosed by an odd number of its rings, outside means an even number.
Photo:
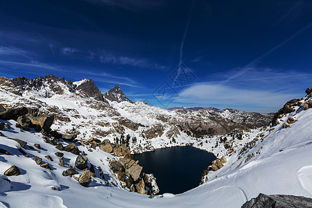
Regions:
<svg viewBox="0 0 312 208"><path fill-rule="evenodd" d="M81 139L76 139L76 135L62 135L55 130L51 130L50 128L53 123L53 116L28 116L28 110L26 107L6 110L2 105L0 105L0 119L13 119L17 121L16 127L21 128L21 131L35 130L41 132L44 142L46 142L47 144L51 144L55 146L56 149L60 150L60 152L54 153L57 157L59 157L59 166L67 166L67 164L65 164L64 162L64 153L62 153L62 151L67 151L74 155L78 155L76 157L75 166L71 166L70 164L68 164L69 168L66 171L63 171L62 175L64 175L64 177L73 177L74 175L78 174L78 171L76 171L76 169L83 171L83 173L80 174L79 177L75 177L75 179L83 187L89 186L90 182L92 182L92 177L96 177L96 172L94 165L91 164L88 158L85 156L85 152L80 152L76 144L80 144L81 146L89 146L89 152L96 150L96 148L98 147L105 153L110 153L114 155L115 159L110 161L110 168L114 173L116 173L116 176L120 180L121 186L123 188L128 187L128 190L132 192L137 192L141 194L152 194L152 196L159 193L156 178L153 176L153 174L142 173L143 167L139 166L138 161L135 161L131 158L128 148L124 145L112 144L108 139L105 139L104 141L101 141L99 139L89 139L88 141L83 141ZM3 130L3 128L10 128L10 126L6 123L0 122L0 130ZM0 136L5 137L1 132L0 134ZM8 137L5 138L12 139ZM19 153L24 155L24 157L29 157L29 155L27 155L23 150L23 148L26 148L27 143L25 141L21 141L20 139L12 140L17 141L17 143L20 145L20 147L16 146L17 150L19 150ZM69 144L67 144L67 146L63 146L62 140L69 142ZM41 149L40 144L35 144L34 146L39 150ZM31 146L28 146L28 148L34 149ZM11 155L5 148L0 148L0 153L5 155ZM46 155L44 157L50 161L53 161L53 159L49 155ZM42 168L52 170L50 164L42 162L42 158L35 156L31 159L33 159L33 161ZM101 171L101 167L98 166L96 168L100 170L99 177L105 180L104 173L103 171ZM14 165L8 168L8 170L3 173L3 175L6 176L20 174L21 172L19 171L19 168ZM9 181L10 180L8 180L8 182ZM57 189L55 187L52 188ZM58 189L60 188L58 187Z"/></svg>

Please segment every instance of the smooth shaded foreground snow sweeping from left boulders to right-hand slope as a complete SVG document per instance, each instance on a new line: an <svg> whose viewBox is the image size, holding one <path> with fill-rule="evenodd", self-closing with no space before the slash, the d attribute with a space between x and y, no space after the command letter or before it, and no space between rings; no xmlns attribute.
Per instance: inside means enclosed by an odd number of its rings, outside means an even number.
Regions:
<svg viewBox="0 0 312 208"><path fill-rule="evenodd" d="M303 110L302 105L311 98L306 97L295 111L284 114L280 124L270 130L263 130L234 155L227 157L227 163L218 171L210 171L208 181L196 189L179 195L164 194L153 199L138 193L120 189L119 185L105 185L94 178L90 187L82 187L76 180L63 177L64 168L50 162L52 170L41 168L20 153L0 155L1 172L12 164L21 168L21 175L10 176L10 191L0 196L3 207L241 207L246 200L259 193L291 194L312 197L312 109ZM289 117L297 120L290 127L283 128ZM290 120L288 120L290 121ZM42 150L25 148L29 155L50 155L55 148L42 141L40 133L20 132L15 121L6 121L11 128L2 131L8 137L23 139L28 146L38 143ZM1 147L14 153L17 144L1 137ZM82 150L83 147L81 147ZM19 155L19 157L17 156ZM253 155L253 157L248 157ZM65 155L73 164L73 155ZM101 166L110 177L114 174L107 168L105 158L109 154L94 151L87 155L92 163ZM44 157L42 157L44 158ZM249 158L249 159L248 159ZM102 159L102 162L101 160ZM108 177L107 177L108 178ZM102 183L101 183L102 182ZM113 180L108 180L113 182ZM51 189L60 187L60 191ZM18 199L18 200L17 200Z"/></svg>

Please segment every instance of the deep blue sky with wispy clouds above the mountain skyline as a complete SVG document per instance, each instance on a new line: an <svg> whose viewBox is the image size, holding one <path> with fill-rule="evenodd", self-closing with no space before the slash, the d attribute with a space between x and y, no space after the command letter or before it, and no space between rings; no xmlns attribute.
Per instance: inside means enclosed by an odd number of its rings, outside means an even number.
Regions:
<svg viewBox="0 0 312 208"><path fill-rule="evenodd" d="M92 78L159 107L276 112L312 87L311 37L309 0L0 1L0 76Z"/></svg>

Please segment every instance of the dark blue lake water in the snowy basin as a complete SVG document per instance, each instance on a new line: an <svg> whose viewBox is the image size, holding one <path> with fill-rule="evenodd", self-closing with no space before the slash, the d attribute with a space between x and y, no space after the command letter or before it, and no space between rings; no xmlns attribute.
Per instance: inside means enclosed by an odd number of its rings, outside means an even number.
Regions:
<svg viewBox="0 0 312 208"><path fill-rule="evenodd" d="M192 146L157 149L131 155L139 160L144 173L153 173L162 193L183 193L200 184L202 172L216 159L212 153Z"/></svg>

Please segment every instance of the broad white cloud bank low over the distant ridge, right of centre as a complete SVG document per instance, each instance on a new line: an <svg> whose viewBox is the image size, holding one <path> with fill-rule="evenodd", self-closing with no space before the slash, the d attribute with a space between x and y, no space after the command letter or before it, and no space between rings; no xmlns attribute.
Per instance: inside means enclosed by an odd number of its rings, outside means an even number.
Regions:
<svg viewBox="0 0 312 208"><path fill-rule="evenodd" d="M270 90L239 89L219 84L199 84L184 89L175 103L189 103L205 107L232 107L238 110L275 112L295 94Z"/></svg>

